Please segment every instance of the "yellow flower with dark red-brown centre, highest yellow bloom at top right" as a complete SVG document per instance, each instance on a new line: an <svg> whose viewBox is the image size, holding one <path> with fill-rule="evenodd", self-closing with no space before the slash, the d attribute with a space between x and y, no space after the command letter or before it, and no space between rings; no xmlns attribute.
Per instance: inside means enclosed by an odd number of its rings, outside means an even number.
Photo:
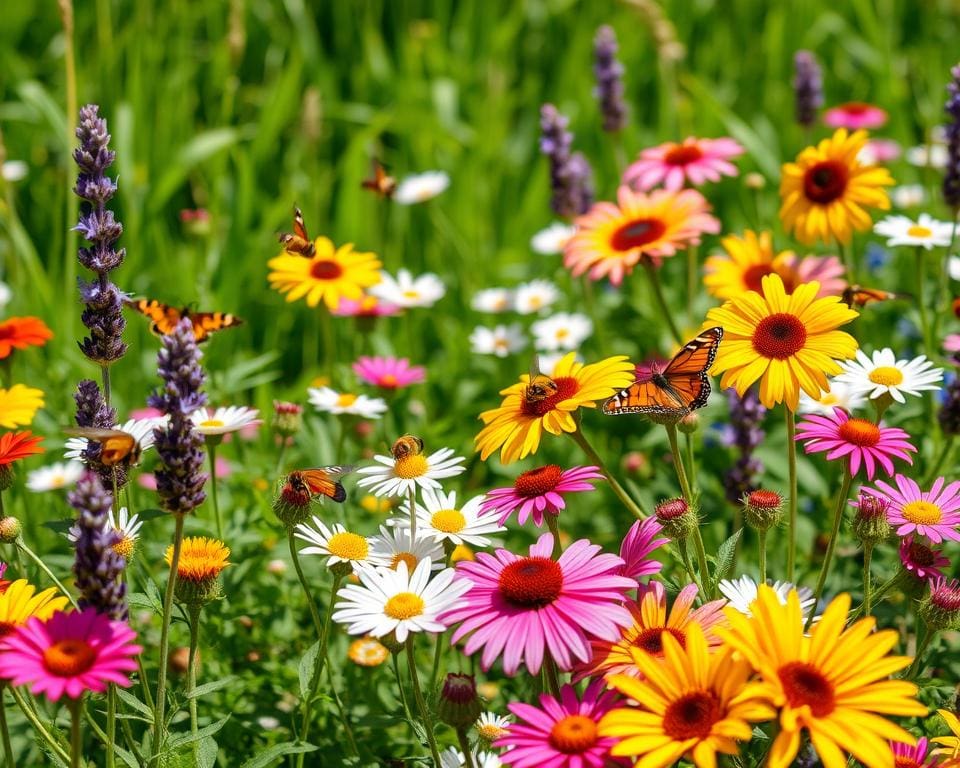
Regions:
<svg viewBox="0 0 960 768"><path fill-rule="evenodd" d="M780 220L801 243L849 243L854 231L873 226L864 207L890 209L883 189L893 184L890 172L857 160L866 143L866 131L849 134L840 128L804 149L796 162L784 164Z"/></svg>

